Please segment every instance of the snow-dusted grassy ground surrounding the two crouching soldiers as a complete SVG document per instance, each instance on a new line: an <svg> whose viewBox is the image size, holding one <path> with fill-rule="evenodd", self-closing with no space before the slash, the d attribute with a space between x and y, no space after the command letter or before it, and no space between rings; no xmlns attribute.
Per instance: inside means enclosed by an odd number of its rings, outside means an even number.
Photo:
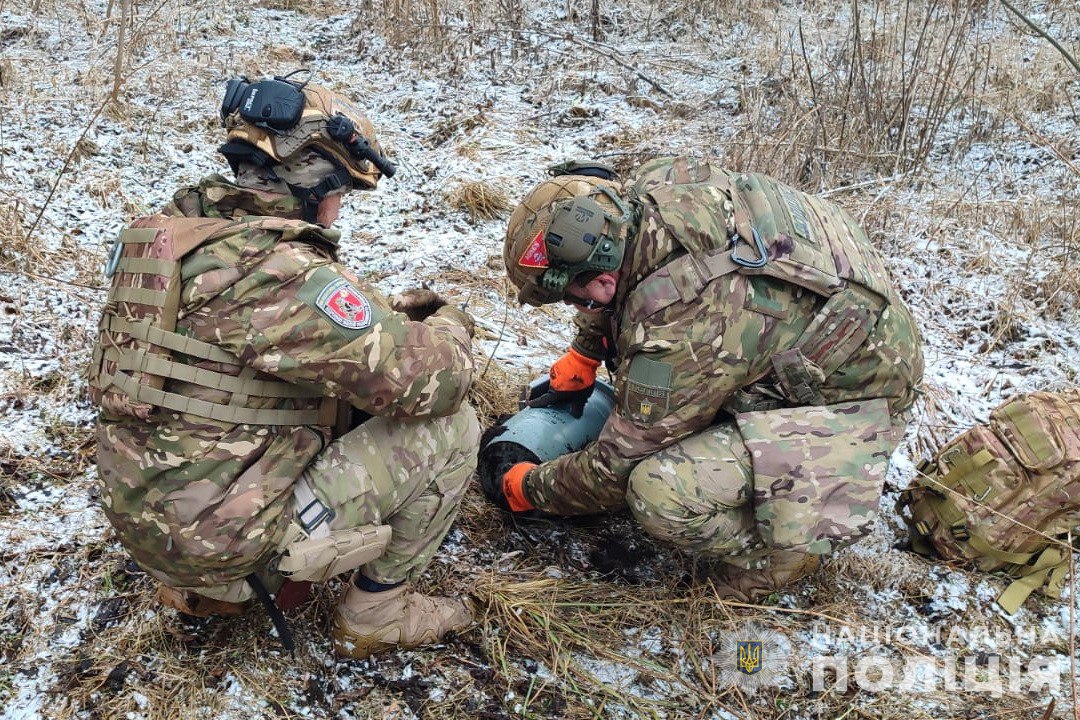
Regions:
<svg viewBox="0 0 1080 720"><path fill-rule="evenodd" d="M625 514L513 519L474 488L424 586L470 594L477 626L364 662L330 652L337 583L289 614L295 657L258 609L203 621L160 610L96 507L83 373L104 257L129 219L226 171L224 81L310 67L369 109L400 173L347 201L342 261L387 293L423 282L468 300L492 420L571 326L559 308L517 305L501 270L505 210L484 219L460 192L483 182L512 203L555 162L627 169L680 152L759 159L741 168L796 181L775 161L787 140L769 132L783 126L795 68L813 64L823 82L843 63L852 8L599 3L593 39L590 4L573 0L133 2L118 77L120 4L0 3L0 716L1076 716L1075 584L1008 616L994 604L1000 580L900 549L892 510L917 463L1004 397L1078 382L1080 81L997 3L970 29L994 46L993 79L947 116L917 172L865 158L842 181L804 184L863 220L924 331L923 395L875 534L743 607L713 599L707 562ZM1080 49L1071 0L1027 4ZM789 649L756 695L723 685L716 656L751 622ZM842 660L846 689L835 669L815 687L823 657ZM860 684L866 658L930 676ZM989 684L950 689L942 674L964 663ZM993 685L999 666L1018 680L1002 669Z"/></svg>

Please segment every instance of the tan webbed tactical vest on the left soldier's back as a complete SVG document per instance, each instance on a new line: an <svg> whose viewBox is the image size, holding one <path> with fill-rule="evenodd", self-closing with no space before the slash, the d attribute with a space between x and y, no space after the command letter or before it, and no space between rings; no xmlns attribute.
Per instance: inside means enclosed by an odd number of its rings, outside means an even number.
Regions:
<svg viewBox="0 0 1080 720"><path fill-rule="evenodd" d="M318 231L299 220L227 220L154 215L120 233L106 274L111 287L102 313L90 371L91 398L107 412L147 420L163 408L237 424L325 425L338 417L337 402L314 388L258 379L234 354L176 330L180 303L180 263L204 243L247 229L279 230L300 237ZM288 237L285 237L288 239ZM174 354L191 358L178 363ZM205 361L233 371L197 367ZM231 393L213 403L165 390L178 380ZM306 409L247 407L252 396L288 398ZM318 403L314 400L318 398Z"/></svg>

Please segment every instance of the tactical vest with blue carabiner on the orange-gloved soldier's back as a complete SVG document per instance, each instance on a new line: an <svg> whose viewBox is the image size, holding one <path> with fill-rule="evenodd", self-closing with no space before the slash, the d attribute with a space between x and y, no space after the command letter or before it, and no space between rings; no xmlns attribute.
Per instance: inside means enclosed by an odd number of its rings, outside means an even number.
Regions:
<svg viewBox="0 0 1080 720"><path fill-rule="evenodd" d="M629 191L687 252L665 266L681 300L732 272L775 277L825 298L796 347L772 358L787 402L824 405L822 381L866 341L892 298L885 266L855 220L764 175L687 158L644 166ZM778 406L743 392L725 409Z"/></svg>

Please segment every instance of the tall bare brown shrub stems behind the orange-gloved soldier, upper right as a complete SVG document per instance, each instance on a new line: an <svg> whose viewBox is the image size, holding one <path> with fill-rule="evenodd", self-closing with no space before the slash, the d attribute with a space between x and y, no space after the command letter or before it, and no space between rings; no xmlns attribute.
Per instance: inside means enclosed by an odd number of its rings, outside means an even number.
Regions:
<svg viewBox="0 0 1080 720"><path fill-rule="evenodd" d="M985 0L851 0L840 42L801 19L770 76L744 89L734 164L819 189L907 173L986 84Z"/></svg>

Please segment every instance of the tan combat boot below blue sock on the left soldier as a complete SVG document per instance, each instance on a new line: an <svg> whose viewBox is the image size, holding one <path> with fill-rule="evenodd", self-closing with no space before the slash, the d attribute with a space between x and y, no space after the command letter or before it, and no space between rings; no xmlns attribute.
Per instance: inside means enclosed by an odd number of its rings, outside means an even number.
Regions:
<svg viewBox="0 0 1080 720"><path fill-rule="evenodd" d="M389 648L434 644L472 622L461 600L421 595L405 585L367 593L349 583L334 612L334 651L363 660Z"/></svg>

